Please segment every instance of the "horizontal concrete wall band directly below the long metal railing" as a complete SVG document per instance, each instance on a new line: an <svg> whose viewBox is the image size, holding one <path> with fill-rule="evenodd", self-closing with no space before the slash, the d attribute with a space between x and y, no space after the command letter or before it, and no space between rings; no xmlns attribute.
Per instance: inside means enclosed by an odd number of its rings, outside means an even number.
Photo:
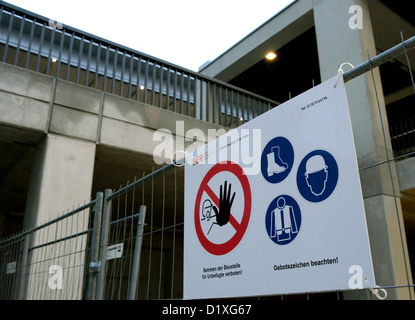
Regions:
<svg viewBox="0 0 415 320"><path fill-rule="evenodd" d="M155 130L222 127L0 63L0 124L152 155Z"/></svg>

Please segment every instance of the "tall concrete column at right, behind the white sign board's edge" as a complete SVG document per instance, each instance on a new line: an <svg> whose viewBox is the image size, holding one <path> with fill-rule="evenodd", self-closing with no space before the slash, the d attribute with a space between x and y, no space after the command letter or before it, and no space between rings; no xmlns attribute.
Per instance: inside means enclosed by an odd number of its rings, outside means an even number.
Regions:
<svg viewBox="0 0 415 320"><path fill-rule="evenodd" d="M361 29L352 29L349 26L349 20L353 16L349 9L353 5L362 8ZM313 0L313 9L322 81L335 76L343 62L356 66L368 59L367 50L372 57L376 54L367 1ZM374 70L374 77L383 128L371 74L360 76L346 85L360 168L386 161L387 152L389 157L393 154L378 69ZM380 286L407 285L408 274L412 283L399 199L400 189L394 163L391 166L389 168L385 164L361 171L375 277ZM396 200L394 195L397 196ZM413 292L410 293L407 288L388 290L391 299L408 299L410 294L413 298ZM367 296L346 294L346 297Z"/></svg>

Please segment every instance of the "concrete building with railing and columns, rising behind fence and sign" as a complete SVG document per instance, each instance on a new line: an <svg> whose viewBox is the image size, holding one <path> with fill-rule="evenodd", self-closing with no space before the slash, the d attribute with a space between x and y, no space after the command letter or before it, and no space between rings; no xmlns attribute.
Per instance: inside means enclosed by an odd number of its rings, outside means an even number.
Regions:
<svg viewBox="0 0 415 320"><path fill-rule="evenodd" d="M177 137L238 126L340 64L388 50L401 32L414 36L409 4L395 3L294 1L200 73L2 3L0 237L151 171L158 129ZM403 286L388 291L391 299L414 297L414 58L408 52L347 84L376 279ZM229 112L234 95L255 111L242 102Z"/></svg>

